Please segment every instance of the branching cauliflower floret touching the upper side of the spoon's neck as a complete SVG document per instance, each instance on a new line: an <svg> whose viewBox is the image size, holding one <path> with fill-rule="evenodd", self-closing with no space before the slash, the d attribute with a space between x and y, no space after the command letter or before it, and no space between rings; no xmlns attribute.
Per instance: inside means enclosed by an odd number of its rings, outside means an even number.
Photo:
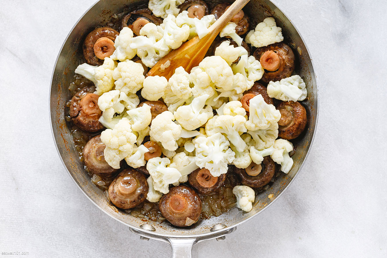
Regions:
<svg viewBox="0 0 387 258"><path fill-rule="evenodd" d="M176 24L179 27L182 27L183 25L188 25L190 27L190 36L188 39L192 39L196 35L199 36L199 39L203 38L210 32L208 28L215 21L215 15L213 14L205 15L200 20L197 17L190 18L188 17L188 11L186 10L176 16Z"/></svg>

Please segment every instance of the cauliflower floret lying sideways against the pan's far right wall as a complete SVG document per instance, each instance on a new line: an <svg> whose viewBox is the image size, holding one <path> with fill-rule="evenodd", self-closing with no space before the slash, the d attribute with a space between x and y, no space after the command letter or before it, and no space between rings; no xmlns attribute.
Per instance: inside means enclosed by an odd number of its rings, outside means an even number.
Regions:
<svg viewBox="0 0 387 258"><path fill-rule="evenodd" d="M269 82L267 94L282 101L303 101L307 97L307 88L300 75L293 75L277 82Z"/></svg>

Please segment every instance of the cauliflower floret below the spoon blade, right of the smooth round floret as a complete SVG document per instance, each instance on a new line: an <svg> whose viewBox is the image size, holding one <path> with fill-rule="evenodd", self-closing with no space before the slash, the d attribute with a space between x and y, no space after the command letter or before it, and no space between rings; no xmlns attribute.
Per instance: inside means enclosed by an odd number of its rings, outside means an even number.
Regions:
<svg viewBox="0 0 387 258"><path fill-rule="evenodd" d="M168 80L168 86L179 99L189 99L192 97L190 75L182 66L175 69L175 73Z"/></svg>

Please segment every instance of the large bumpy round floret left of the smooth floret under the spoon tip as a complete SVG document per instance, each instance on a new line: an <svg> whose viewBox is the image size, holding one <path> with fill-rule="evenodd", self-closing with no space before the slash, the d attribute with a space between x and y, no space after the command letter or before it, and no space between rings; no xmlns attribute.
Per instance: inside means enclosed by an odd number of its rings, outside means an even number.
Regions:
<svg viewBox="0 0 387 258"><path fill-rule="evenodd" d="M113 71L113 79L116 80L115 89L128 93L136 93L142 88L144 82L144 67L140 63L126 60L118 63Z"/></svg>

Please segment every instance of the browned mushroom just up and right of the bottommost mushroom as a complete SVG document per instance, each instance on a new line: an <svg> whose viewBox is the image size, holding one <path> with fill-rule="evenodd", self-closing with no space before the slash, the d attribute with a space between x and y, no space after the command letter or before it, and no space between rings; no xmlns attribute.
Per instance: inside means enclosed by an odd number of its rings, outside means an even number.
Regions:
<svg viewBox="0 0 387 258"><path fill-rule="evenodd" d="M221 187L226 179L226 174L212 176L208 169L196 169L189 174L188 183L201 195L208 195Z"/></svg>

